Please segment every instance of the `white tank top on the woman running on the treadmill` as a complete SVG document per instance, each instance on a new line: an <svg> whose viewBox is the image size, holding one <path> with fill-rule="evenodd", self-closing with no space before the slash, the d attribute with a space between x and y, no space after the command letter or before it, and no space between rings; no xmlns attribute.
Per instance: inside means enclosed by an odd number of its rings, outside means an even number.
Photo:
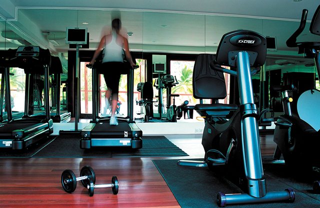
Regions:
<svg viewBox="0 0 320 208"><path fill-rule="evenodd" d="M103 59L104 62L123 62L124 51L122 46L116 43L116 33L112 31L112 39L108 44L105 44L103 50Z"/></svg>

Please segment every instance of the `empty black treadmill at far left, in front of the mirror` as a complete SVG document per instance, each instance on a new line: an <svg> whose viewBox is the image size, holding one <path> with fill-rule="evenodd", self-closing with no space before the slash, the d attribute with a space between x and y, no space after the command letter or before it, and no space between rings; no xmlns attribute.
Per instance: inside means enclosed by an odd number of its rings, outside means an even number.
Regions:
<svg viewBox="0 0 320 208"><path fill-rule="evenodd" d="M42 49L38 46L19 46L17 49L8 49L5 56L0 58L0 66L4 67L5 79L5 105L7 109L7 122L0 123L0 148L22 150L46 139L53 132L53 122L50 119L49 112L49 70L51 61L48 49ZM12 119L10 85L9 85L9 67L19 67L24 69L25 74L43 73L44 74L44 103L45 118L20 118ZM31 71L31 69L33 71ZM35 70L36 69L36 70ZM40 70L40 71L37 71ZM30 73L27 73L29 71ZM26 76L25 95L29 93L29 78ZM25 102L28 102L25 96ZM27 109L26 111L27 112Z"/></svg>

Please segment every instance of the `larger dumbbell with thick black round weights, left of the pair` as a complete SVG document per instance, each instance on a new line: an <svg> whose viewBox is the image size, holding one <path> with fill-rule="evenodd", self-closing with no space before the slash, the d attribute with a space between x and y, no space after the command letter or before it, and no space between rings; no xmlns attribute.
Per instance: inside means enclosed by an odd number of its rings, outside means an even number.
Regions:
<svg viewBox="0 0 320 208"><path fill-rule="evenodd" d="M81 181L82 185L86 188L89 179L91 179L92 183L95 183L95 174L93 169L90 166L84 166L80 171L80 177L76 178L73 171L64 170L61 174L61 184L62 188L67 193L74 192L76 188L76 182Z"/></svg>

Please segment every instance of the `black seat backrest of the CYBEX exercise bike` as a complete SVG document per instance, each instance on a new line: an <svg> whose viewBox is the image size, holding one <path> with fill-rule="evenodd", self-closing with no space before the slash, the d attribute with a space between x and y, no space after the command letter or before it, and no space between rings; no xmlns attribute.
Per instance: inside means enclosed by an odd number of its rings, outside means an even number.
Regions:
<svg viewBox="0 0 320 208"><path fill-rule="evenodd" d="M192 75L193 97L197 99L224 99L225 81L222 72L210 68L213 54L199 54L194 62Z"/></svg>

